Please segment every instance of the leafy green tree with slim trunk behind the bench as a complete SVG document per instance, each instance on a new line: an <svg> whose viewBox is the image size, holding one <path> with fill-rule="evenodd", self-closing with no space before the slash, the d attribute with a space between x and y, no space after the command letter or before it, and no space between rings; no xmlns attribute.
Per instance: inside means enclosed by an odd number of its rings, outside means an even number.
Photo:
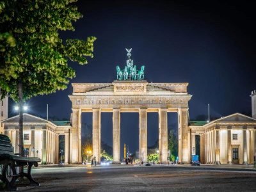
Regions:
<svg viewBox="0 0 256 192"><path fill-rule="evenodd" d="M20 154L23 156L23 105L36 95L64 90L75 71L67 61L83 65L93 57L95 37L60 38L83 17L76 0L0 0L0 87L19 102ZM2 36L2 37L1 37Z"/></svg>

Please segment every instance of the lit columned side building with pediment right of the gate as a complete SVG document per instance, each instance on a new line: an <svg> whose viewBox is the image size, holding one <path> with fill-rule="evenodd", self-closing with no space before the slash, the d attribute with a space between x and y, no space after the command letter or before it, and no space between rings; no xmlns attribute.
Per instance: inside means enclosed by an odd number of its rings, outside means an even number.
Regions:
<svg viewBox="0 0 256 192"><path fill-rule="evenodd" d="M210 164L253 163L256 156L256 119L235 113L205 125L191 122L191 154L200 136L200 161ZM199 155L199 154L197 154Z"/></svg>

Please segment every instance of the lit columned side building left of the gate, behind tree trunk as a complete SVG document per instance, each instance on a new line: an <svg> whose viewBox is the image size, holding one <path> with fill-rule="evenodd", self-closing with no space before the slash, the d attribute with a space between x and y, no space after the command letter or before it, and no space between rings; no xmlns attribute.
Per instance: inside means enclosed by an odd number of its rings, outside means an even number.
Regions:
<svg viewBox="0 0 256 192"><path fill-rule="evenodd" d="M28 113L24 113L23 120L24 148L29 157L40 157L41 163L58 163L59 136L65 135L65 163L69 163L70 122L51 122ZM2 124L4 134L11 139L14 152L19 153L19 115L3 120Z"/></svg>

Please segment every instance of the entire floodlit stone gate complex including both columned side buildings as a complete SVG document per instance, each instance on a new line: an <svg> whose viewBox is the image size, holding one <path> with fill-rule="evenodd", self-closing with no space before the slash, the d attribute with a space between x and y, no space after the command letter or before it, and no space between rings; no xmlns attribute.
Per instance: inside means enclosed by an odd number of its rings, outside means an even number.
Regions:
<svg viewBox="0 0 256 192"><path fill-rule="evenodd" d="M51 122L24 113L24 148L29 156L37 156L42 163L58 163L59 136L65 136L65 163L81 163L81 115L92 113L93 157L100 163L100 116L113 114L113 163L120 163L120 114L139 115L139 156L147 162L147 114L158 113L159 162L168 163L168 113L177 113L179 162L190 163L192 155L199 155L201 163L253 163L256 155L256 92L252 92L252 117L234 113L211 122L189 122L188 83L148 83L144 80L145 67L140 70L131 60L124 69L116 67L113 83L73 83L70 122ZM2 106L6 106L6 101ZM8 102L7 102L8 106ZM0 108L5 111L6 107ZM8 107L7 107L8 110ZM7 112L8 113L8 112ZM2 116L3 117L3 116ZM5 118L5 119L4 119ZM8 135L19 152L19 115L0 118L1 132ZM196 145L196 141L199 145ZM32 150L34 149L34 150ZM31 152L33 151L33 152ZM35 155L36 152L36 155Z"/></svg>

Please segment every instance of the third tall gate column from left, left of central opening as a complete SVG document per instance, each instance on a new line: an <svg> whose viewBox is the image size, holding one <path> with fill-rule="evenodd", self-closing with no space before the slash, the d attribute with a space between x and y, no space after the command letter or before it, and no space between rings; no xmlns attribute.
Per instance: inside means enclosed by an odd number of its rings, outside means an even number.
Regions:
<svg viewBox="0 0 256 192"><path fill-rule="evenodd" d="M113 109L113 163L120 164L120 109Z"/></svg>

